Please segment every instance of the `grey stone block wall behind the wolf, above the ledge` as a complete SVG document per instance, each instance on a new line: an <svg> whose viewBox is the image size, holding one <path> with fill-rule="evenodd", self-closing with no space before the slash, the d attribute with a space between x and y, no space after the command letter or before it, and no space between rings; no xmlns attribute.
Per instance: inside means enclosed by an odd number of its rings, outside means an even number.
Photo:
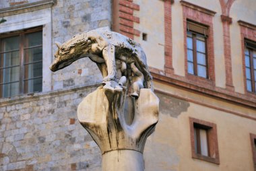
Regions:
<svg viewBox="0 0 256 171"><path fill-rule="evenodd" d="M79 32L96 28L110 28L110 0L66 1L59 0L53 6L53 55L55 42L65 42ZM102 81L102 75L90 59L79 59L69 67L53 73L52 89L70 88Z"/></svg>

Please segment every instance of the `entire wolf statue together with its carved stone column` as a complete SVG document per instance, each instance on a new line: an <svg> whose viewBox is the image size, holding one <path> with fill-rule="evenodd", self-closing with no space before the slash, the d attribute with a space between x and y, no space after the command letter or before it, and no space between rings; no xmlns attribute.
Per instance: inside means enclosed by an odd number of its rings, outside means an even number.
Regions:
<svg viewBox="0 0 256 171"><path fill-rule="evenodd" d="M102 170L144 170L143 149L158 123L159 100L141 46L106 30L83 32L57 46L52 71L89 57L104 77L77 108L79 123L100 147Z"/></svg>

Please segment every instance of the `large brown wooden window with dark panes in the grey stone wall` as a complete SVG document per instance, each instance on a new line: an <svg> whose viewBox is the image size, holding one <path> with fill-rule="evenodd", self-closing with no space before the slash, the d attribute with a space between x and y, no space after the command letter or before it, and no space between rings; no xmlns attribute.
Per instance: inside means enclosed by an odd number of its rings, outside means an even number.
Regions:
<svg viewBox="0 0 256 171"><path fill-rule="evenodd" d="M42 91L42 29L0 36L0 98Z"/></svg>

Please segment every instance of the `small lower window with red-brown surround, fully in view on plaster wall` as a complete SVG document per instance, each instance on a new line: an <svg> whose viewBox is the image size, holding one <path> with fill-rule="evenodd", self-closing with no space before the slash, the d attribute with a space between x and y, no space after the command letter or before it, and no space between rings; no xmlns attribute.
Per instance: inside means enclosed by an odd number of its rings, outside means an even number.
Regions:
<svg viewBox="0 0 256 171"><path fill-rule="evenodd" d="M220 164L216 124L189 118L192 158Z"/></svg>

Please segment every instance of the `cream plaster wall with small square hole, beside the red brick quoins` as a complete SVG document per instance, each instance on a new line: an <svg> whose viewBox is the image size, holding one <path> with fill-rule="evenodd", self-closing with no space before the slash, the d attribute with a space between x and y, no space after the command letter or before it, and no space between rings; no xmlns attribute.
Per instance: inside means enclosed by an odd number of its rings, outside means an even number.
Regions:
<svg viewBox="0 0 256 171"><path fill-rule="evenodd" d="M140 6L139 11L134 11L139 17L139 24L134 23L134 28L141 32L134 40L145 51L148 65L164 70L164 2L135 0L134 3ZM142 33L147 34L147 40L142 40Z"/></svg>

